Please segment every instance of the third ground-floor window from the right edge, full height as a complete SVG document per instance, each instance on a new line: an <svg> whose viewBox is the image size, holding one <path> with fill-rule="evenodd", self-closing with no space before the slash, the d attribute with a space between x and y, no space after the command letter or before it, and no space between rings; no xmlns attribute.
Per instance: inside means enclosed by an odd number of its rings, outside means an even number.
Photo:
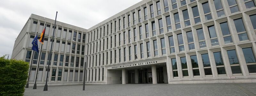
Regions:
<svg viewBox="0 0 256 96"><path fill-rule="evenodd" d="M221 52L214 52L213 55L214 55L218 74L226 74Z"/></svg>

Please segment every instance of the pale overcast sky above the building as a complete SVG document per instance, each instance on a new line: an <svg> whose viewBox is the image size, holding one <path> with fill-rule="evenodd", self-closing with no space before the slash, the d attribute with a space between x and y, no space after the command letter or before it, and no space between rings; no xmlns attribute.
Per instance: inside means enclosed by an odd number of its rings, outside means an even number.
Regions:
<svg viewBox="0 0 256 96"><path fill-rule="evenodd" d="M141 0L1 0L0 57L12 56L15 38L33 13L81 28L91 28Z"/></svg>

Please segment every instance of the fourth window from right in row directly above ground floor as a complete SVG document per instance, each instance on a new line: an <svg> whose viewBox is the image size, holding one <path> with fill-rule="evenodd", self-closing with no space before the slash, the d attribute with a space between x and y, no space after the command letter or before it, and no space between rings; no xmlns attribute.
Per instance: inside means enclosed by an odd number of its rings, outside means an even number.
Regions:
<svg viewBox="0 0 256 96"><path fill-rule="evenodd" d="M219 45L219 41L218 41L218 38L217 38L217 35L216 35L214 25L208 26L208 31L209 31L209 34L210 34L210 39L211 39L212 46Z"/></svg>

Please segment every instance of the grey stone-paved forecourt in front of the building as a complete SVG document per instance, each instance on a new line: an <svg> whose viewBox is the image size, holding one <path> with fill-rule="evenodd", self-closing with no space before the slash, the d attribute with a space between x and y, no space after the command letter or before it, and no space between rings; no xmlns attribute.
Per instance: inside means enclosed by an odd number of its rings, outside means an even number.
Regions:
<svg viewBox="0 0 256 96"><path fill-rule="evenodd" d="M24 96L256 96L256 83L110 84L25 88Z"/></svg>

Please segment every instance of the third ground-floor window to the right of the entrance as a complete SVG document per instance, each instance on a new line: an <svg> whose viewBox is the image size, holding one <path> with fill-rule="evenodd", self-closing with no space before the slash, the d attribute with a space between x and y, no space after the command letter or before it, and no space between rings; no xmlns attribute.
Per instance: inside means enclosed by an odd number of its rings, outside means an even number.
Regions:
<svg viewBox="0 0 256 96"><path fill-rule="evenodd" d="M191 64L192 64L192 69L193 69L193 75L200 76L196 55L190 56L190 59L191 59Z"/></svg>

